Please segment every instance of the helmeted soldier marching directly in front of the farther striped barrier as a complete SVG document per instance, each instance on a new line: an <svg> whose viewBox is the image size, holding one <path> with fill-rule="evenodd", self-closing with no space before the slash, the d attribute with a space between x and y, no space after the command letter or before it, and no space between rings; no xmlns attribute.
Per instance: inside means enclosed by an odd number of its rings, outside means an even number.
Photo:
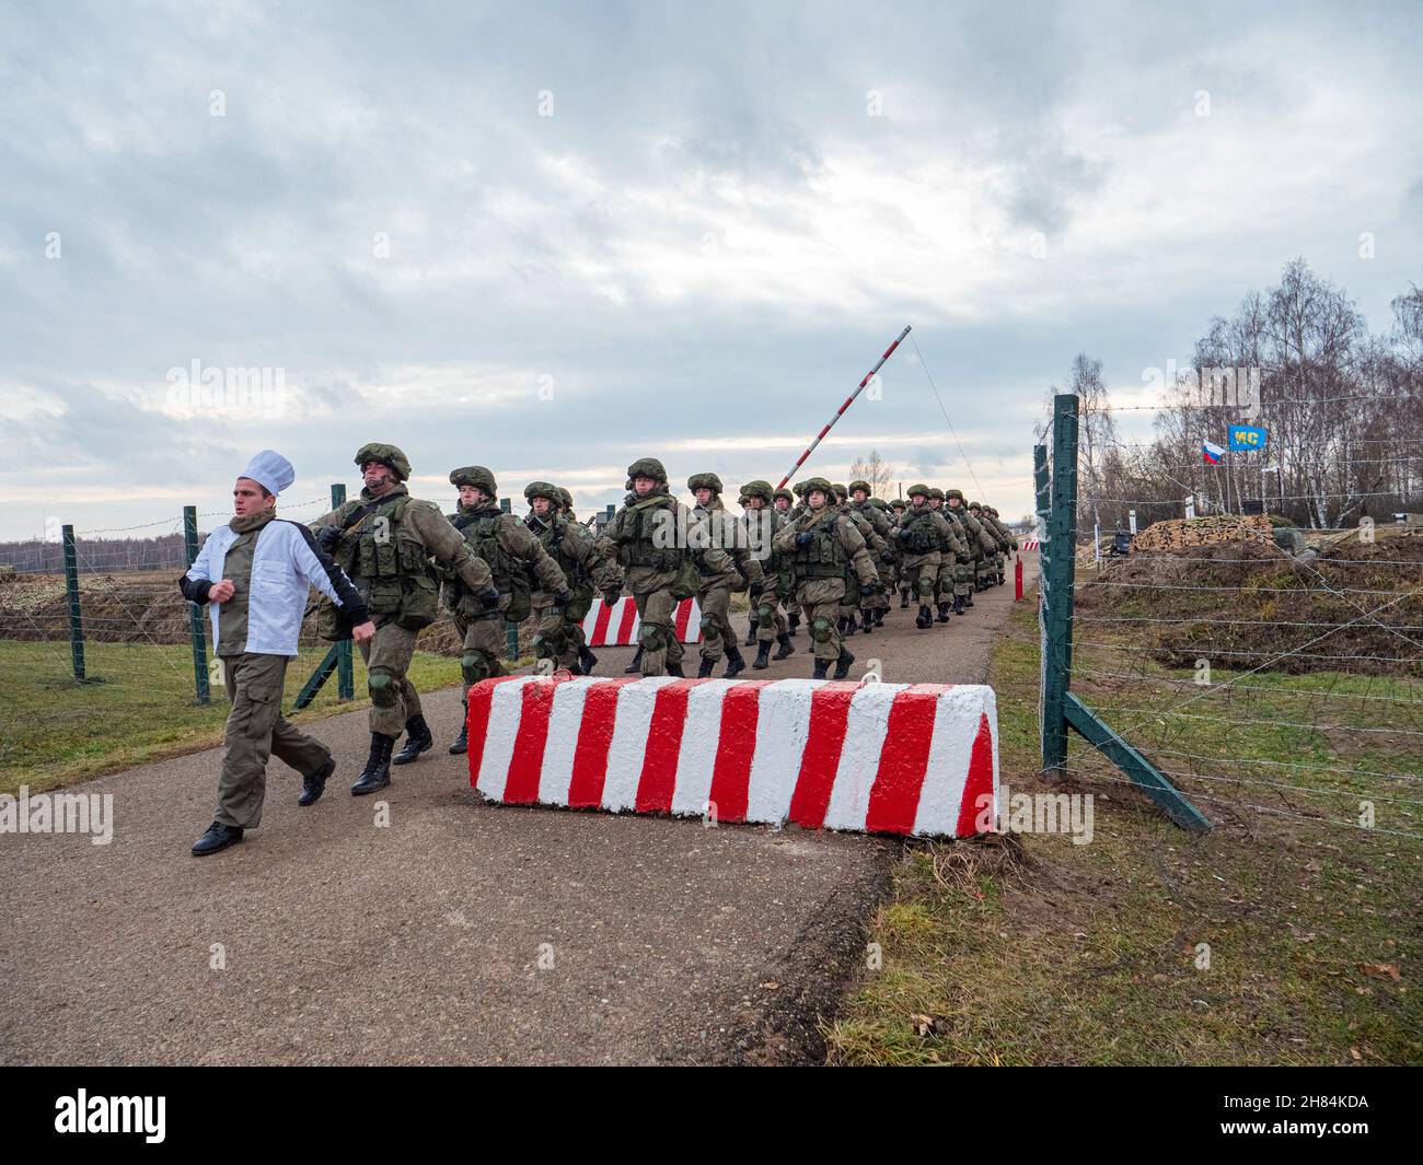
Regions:
<svg viewBox="0 0 1423 1165"><path fill-rule="evenodd" d="M628 496L603 526L598 550L622 566L638 605L638 646L643 676L682 676L682 643L677 642L677 603L690 599L700 576L684 546L677 545L684 508L667 491L667 471L655 457L628 467ZM603 595L612 606L615 596Z"/></svg>

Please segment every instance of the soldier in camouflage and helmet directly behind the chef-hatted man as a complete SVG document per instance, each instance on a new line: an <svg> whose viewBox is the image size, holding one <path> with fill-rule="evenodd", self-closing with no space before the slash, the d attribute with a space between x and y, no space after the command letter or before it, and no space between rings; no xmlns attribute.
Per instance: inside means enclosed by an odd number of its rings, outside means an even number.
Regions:
<svg viewBox="0 0 1423 1165"><path fill-rule="evenodd" d="M360 643L370 690L370 755L351 785L357 797L390 784L391 752L400 731L410 734L401 757L413 761L434 737L420 711L420 694L406 676L416 633L435 620L437 592L430 559L448 565L461 585L485 603L498 600L494 576L475 558L434 502L411 498L404 482L410 461L394 445L373 442L356 454L366 481L360 498L312 522L322 549L356 583L376 622L376 636ZM322 612L329 639L337 629Z"/></svg>

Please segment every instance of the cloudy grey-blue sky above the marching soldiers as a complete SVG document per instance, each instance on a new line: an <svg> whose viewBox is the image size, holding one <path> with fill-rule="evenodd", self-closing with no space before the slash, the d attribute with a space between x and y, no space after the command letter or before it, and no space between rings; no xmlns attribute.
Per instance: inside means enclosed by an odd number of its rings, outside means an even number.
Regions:
<svg viewBox="0 0 1423 1165"><path fill-rule="evenodd" d="M1375 329L1423 282L1416 3L1006 7L4 6L0 538L262 447L774 482L906 323L808 468L1017 516L1079 350L1140 395L1292 257Z"/></svg>

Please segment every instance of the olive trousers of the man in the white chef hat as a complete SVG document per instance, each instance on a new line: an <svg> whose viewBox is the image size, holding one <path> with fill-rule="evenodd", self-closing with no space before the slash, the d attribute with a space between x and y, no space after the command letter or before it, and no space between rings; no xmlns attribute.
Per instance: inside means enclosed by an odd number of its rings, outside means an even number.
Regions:
<svg viewBox="0 0 1423 1165"><path fill-rule="evenodd" d="M223 825L256 829L262 824L266 799L268 758L275 755L305 777L326 764L332 752L282 718L286 656L249 651L221 659L232 711L222 741L215 818Z"/></svg>

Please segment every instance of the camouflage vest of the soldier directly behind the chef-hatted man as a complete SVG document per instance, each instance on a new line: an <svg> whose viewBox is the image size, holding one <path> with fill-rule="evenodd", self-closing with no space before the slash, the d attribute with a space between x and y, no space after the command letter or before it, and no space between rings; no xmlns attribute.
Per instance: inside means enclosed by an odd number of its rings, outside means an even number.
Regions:
<svg viewBox="0 0 1423 1165"><path fill-rule="evenodd" d="M388 616L387 622L418 632L435 622L438 585L424 545L404 525L408 504L408 494L397 494L367 509L356 525L343 528L334 558L366 596L371 616ZM319 612L317 629L324 639L339 634L337 612L329 602Z"/></svg>

